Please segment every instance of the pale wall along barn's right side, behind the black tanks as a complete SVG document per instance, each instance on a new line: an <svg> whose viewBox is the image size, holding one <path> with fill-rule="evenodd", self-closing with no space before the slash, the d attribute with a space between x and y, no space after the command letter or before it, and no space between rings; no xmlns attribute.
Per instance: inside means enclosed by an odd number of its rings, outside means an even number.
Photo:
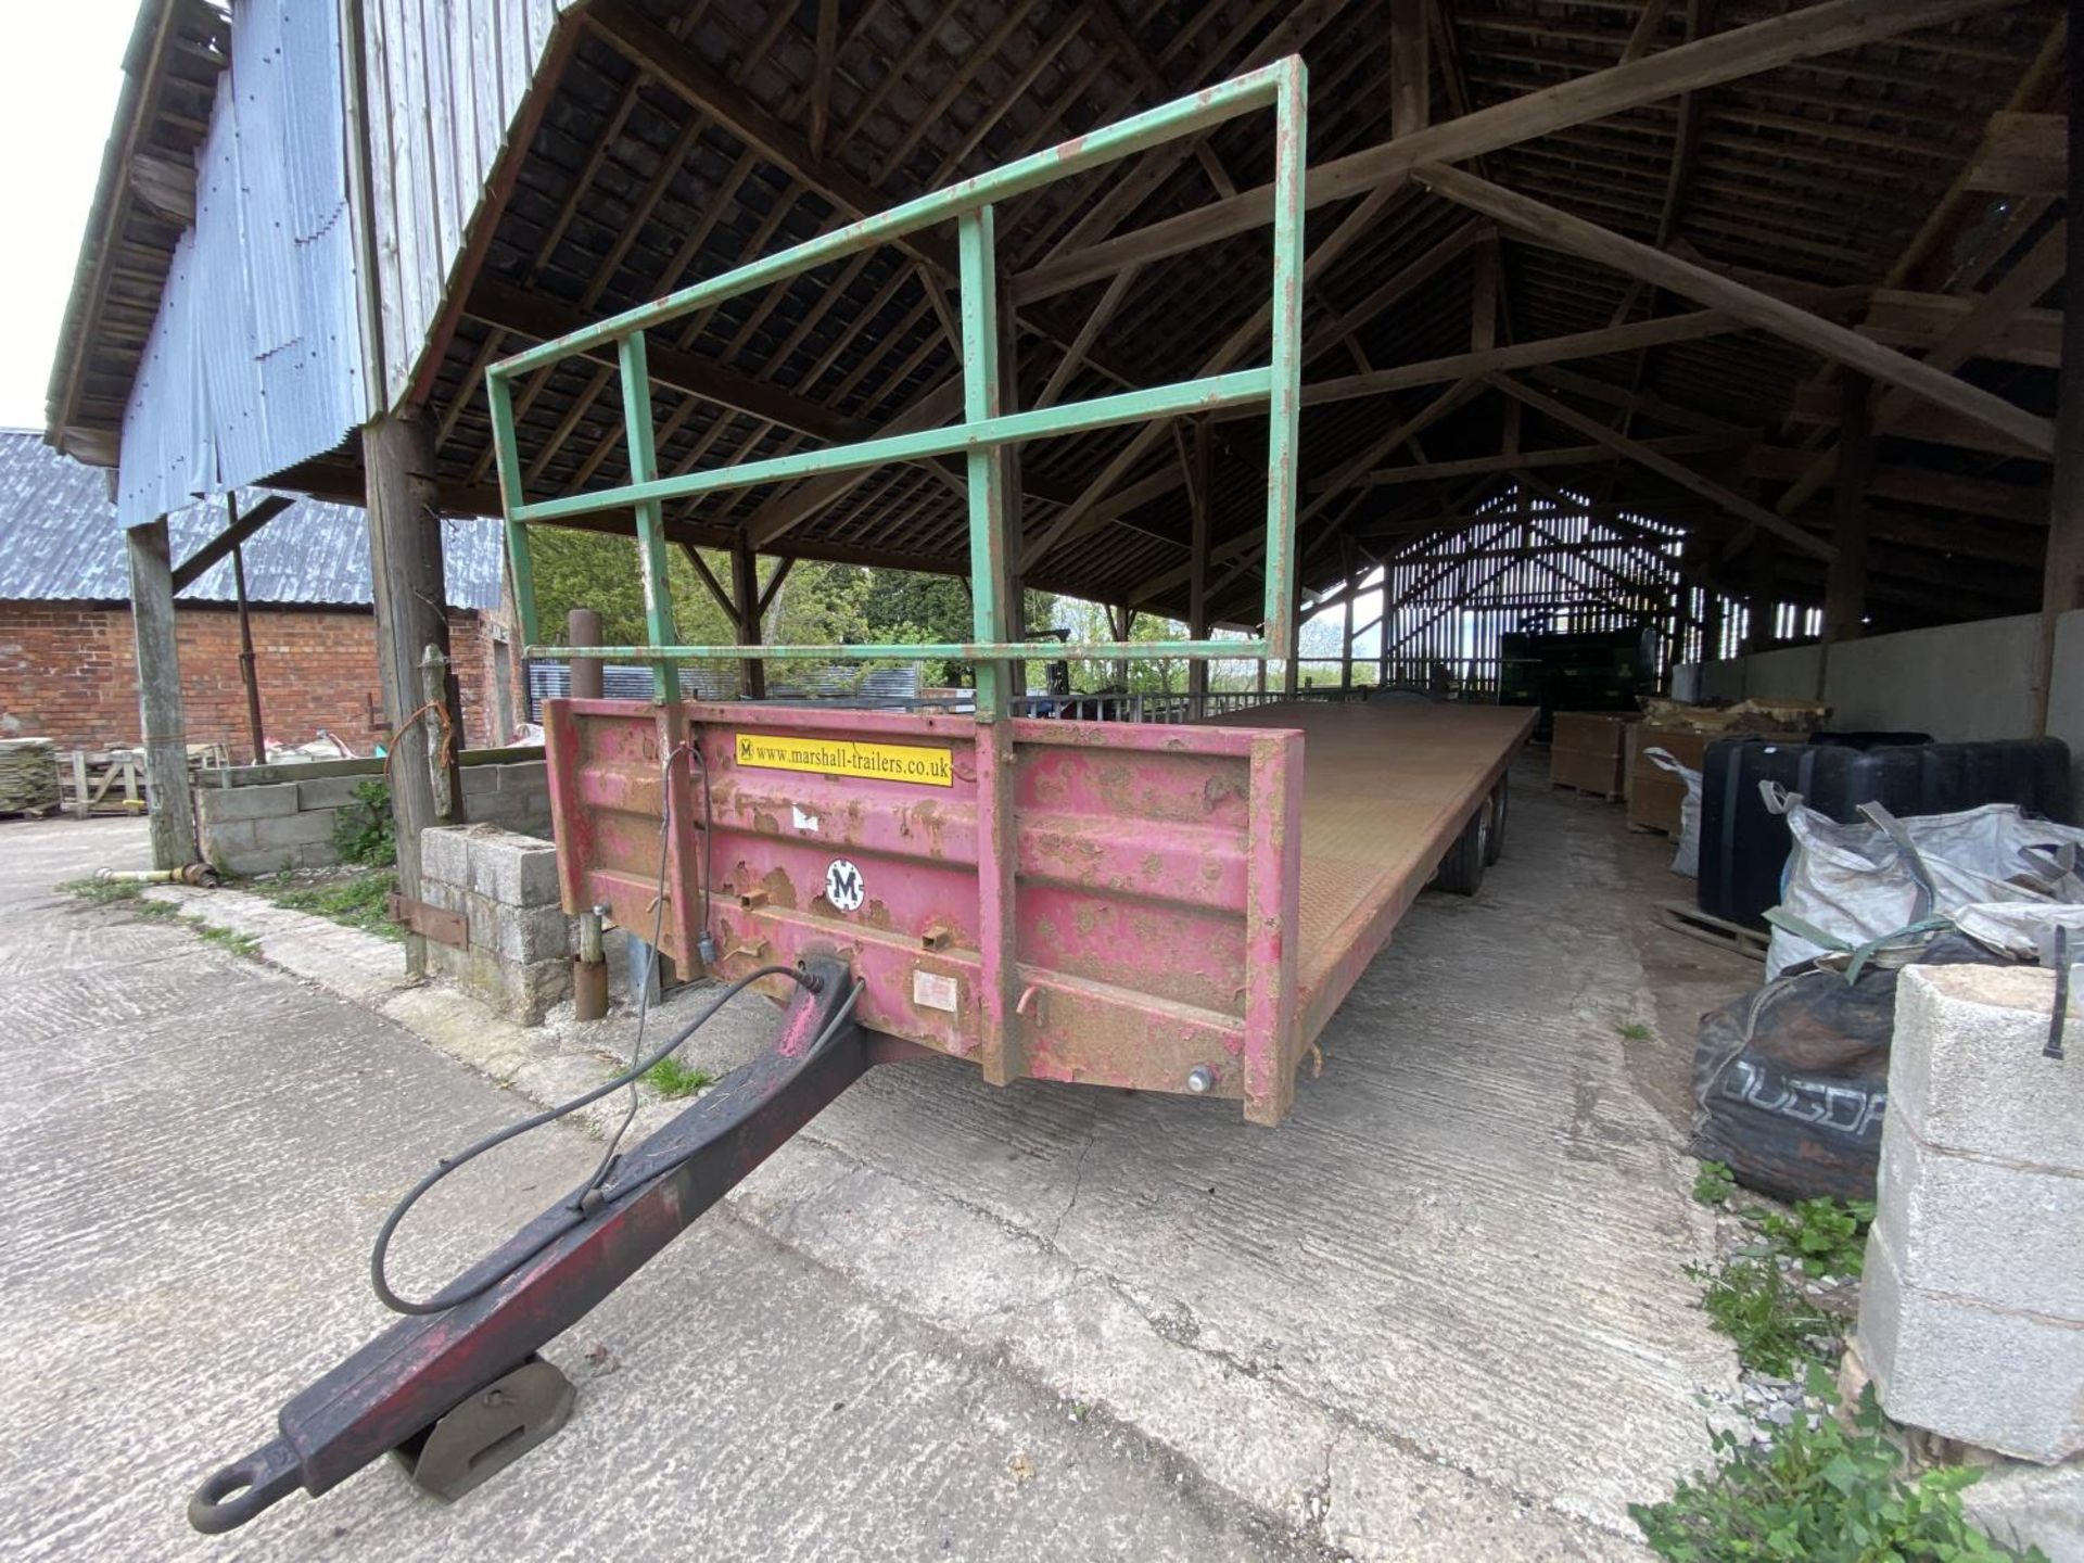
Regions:
<svg viewBox="0 0 2084 1563"><path fill-rule="evenodd" d="M1846 731L1926 731L1946 744L2032 738L2038 652L2038 613L1849 640L1830 648L1821 700L1830 725ZM1790 646L1684 673L1696 698L1815 700L1821 656L1819 646ZM2069 744L2071 798L2084 809L2084 611L2065 613L2055 640L2049 736Z"/></svg>

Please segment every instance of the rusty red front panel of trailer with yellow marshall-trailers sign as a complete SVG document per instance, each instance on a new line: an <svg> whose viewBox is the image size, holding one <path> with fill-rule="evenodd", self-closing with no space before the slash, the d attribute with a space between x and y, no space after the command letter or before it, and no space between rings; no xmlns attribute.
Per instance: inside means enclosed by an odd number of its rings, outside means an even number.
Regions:
<svg viewBox="0 0 2084 1563"><path fill-rule="evenodd" d="M1011 729L1013 1073L1192 1090L1205 1069L1209 1094L1277 1119L1300 1050L1300 736ZM984 729L971 717L552 700L546 731L567 911L606 904L644 936L656 917L684 969L706 921L719 975L838 954L867 982L867 1027L979 1057Z"/></svg>

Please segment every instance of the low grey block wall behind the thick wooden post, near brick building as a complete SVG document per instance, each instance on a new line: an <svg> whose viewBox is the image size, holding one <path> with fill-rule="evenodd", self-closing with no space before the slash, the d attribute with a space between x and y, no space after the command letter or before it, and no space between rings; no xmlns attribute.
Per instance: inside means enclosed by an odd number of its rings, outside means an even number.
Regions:
<svg viewBox="0 0 2084 1563"><path fill-rule="evenodd" d="M202 857L221 873L260 875L323 869L340 863L333 823L354 788L383 773L381 761L317 761L317 775L298 765L252 767L256 782L196 790ZM231 773L238 777L238 773ZM550 838L550 773L542 761L463 767L463 817Z"/></svg>

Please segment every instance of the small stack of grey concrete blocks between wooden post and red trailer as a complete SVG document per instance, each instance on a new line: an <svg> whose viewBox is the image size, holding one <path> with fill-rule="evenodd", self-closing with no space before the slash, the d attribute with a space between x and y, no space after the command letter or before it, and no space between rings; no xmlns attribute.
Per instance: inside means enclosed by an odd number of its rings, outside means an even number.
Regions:
<svg viewBox="0 0 2084 1563"><path fill-rule="evenodd" d="M556 848L496 825L421 832L421 898L461 913L467 944L427 940L427 969L523 1025L571 996L571 919L559 907Z"/></svg>

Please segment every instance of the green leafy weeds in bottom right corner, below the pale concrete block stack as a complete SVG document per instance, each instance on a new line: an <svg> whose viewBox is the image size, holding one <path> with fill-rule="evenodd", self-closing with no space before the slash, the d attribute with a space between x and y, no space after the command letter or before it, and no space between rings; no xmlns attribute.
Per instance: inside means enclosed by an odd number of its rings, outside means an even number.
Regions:
<svg viewBox="0 0 2084 1563"><path fill-rule="evenodd" d="M1680 1482L1665 1503L1630 1505L1651 1550L1671 1563L2046 1563L2038 1548L2017 1553L1969 1523L1961 1490L1980 1471L1903 1478L1871 1386L1851 1428L1830 1415L1838 1392L1821 1365L1809 1369L1809 1394L1826 1409L1813 1425L1805 1415L1761 1423L1765 1448L1719 1432L1713 1471Z"/></svg>

